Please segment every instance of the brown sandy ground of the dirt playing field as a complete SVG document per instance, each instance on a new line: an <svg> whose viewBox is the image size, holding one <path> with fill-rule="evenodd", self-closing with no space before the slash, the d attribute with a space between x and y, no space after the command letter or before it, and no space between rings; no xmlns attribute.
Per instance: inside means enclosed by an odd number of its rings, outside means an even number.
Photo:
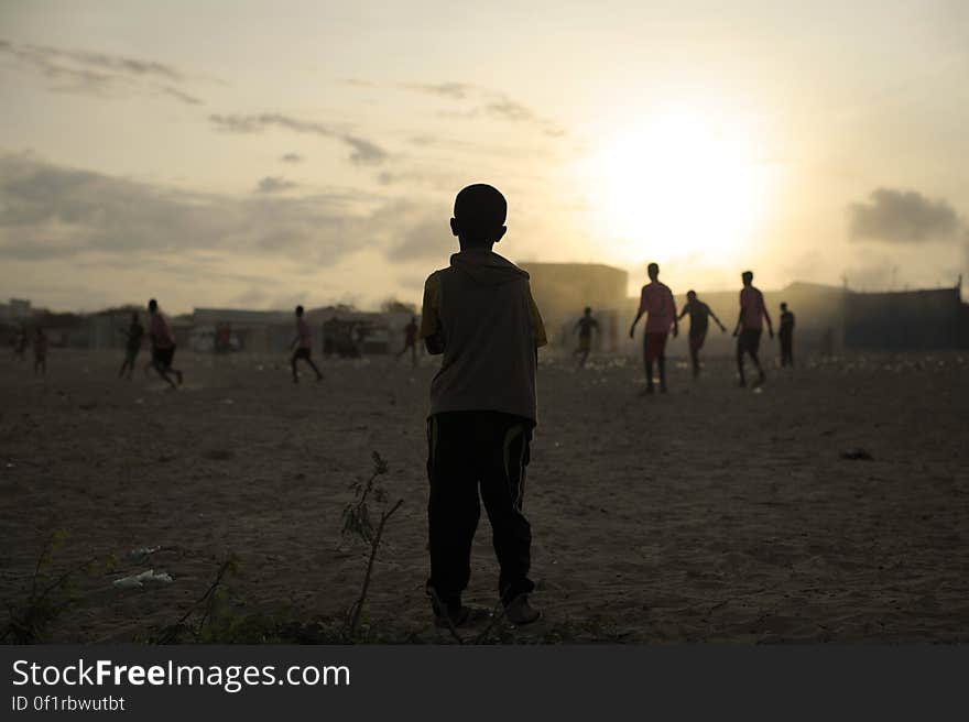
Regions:
<svg viewBox="0 0 969 722"><path fill-rule="evenodd" d="M117 380L118 363L55 349L41 381L0 360L4 608L64 528L55 568L113 553L174 582L81 578L58 642L142 638L230 554L247 608L339 612L366 562L340 513L378 450L404 504L369 613L438 638L423 592L431 360L329 361L294 386L285 359L179 353L176 393L141 370ZM760 392L734 387L729 359L700 383L678 360L666 396L639 396L641 376L625 359L543 360L525 500L540 624L640 643L969 642L969 354L806 363ZM841 457L853 449L872 458ZM467 598L490 605L496 576L482 517Z"/></svg>

